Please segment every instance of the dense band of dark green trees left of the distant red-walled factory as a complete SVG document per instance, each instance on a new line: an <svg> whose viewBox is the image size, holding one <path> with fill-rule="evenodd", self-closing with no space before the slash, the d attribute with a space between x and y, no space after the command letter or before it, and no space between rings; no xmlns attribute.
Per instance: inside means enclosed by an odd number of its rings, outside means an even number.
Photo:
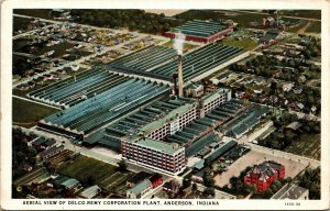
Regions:
<svg viewBox="0 0 330 211"><path fill-rule="evenodd" d="M108 27L127 27L131 31L158 34L177 26L178 22L165 19L164 13L146 13L144 10L72 10L75 21Z"/></svg>

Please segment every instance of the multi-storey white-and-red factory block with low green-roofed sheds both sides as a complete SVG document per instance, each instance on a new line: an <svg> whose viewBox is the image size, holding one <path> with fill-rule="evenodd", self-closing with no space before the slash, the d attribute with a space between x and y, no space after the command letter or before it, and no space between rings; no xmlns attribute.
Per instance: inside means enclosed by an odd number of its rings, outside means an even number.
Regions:
<svg viewBox="0 0 330 211"><path fill-rule="evenodd" d="M90 135L85 143L105 145L132 163L176 175L185 169L186 157L219 138L210 130L232 114L217 108L221 104L235 110L232 113L243 108L241 102L231 100L229 89L220 88L199 100L175 97L127 115ZM205 108L208 116L200 118Z"/></svg>

